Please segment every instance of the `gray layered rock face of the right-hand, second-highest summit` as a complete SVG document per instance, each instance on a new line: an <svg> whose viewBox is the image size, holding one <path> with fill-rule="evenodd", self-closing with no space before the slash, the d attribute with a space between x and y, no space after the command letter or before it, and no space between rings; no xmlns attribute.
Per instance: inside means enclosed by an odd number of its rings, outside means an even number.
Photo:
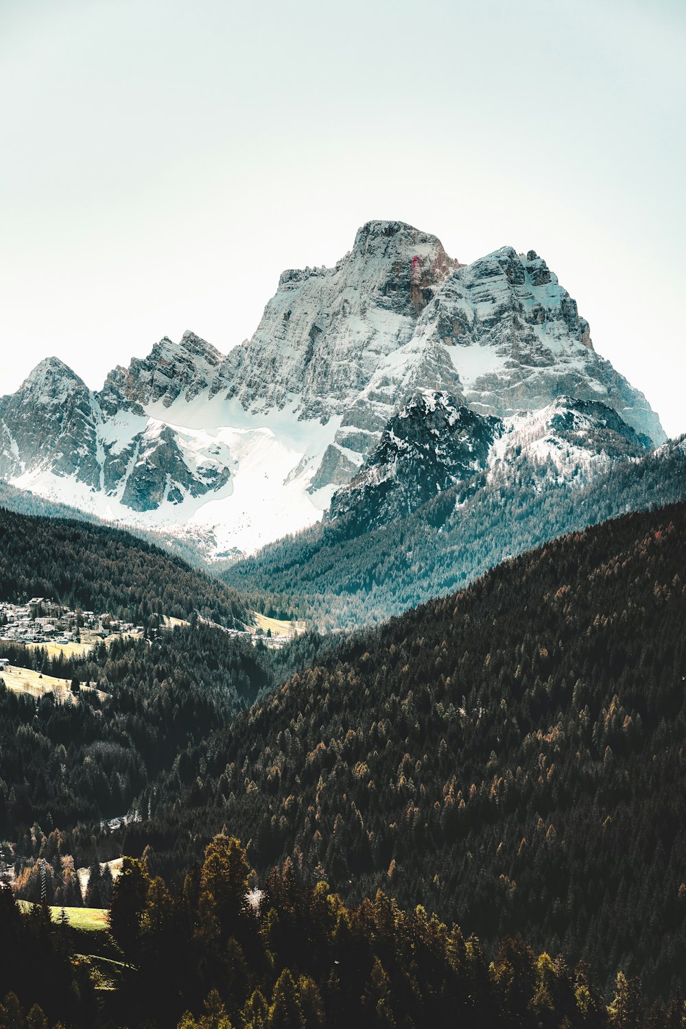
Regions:
<svg viewBox="0 0 686 1029"><path fill-rule="evenodd" d="M664 432L643 393L593 350L575 300L534 251L504 247L457 269L423 312L417 339L449 352L462 395L499 416L567 394L602 400L638 432Z"/></svg>

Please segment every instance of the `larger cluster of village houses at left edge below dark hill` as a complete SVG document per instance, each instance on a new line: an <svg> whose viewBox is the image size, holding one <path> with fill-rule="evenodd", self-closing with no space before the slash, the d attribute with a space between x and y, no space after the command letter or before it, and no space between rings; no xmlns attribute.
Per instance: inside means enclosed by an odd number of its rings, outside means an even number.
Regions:
<svg viewBox="0 0 686 1029"><path fill-rule="evenodd" d="M95 641L112 633L142 632L143 626L94 611L71 611L45 597L32 597L26 604L0 603L0 639L13 643L64 644L79 642L81 633Z"/></svg>

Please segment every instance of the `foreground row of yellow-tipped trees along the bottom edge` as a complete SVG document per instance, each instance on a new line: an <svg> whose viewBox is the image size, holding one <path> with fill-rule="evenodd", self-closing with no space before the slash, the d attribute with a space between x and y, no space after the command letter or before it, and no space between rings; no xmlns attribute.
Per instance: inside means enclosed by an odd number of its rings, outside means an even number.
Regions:
<svg viewBox="0 0 686 1029"><path fill-rule="evenodd" d="M38 1003L88 1029L684 1025L680 994L646 1004L640 981L620 971L604 995L587 964L570 966L521 937L498 943L489 959L476 936L421 906L405 911L381 890L347 904L326 882L303 882L289 861L269 871L263 888L255 883L245 849L226 836L210 843L178 889L127 858L110 913L125 965L110 964L118 974L100 992L100 1009L83 982L84 960L65 961L66 926L49 925L39 907L20 916L0 891L0 943L10 956L0 963L0 996L8 991L0 1025L47 1029ZM32 945L39 977L19 959ZM52 995L45 971L60 977Z"/></svg>

